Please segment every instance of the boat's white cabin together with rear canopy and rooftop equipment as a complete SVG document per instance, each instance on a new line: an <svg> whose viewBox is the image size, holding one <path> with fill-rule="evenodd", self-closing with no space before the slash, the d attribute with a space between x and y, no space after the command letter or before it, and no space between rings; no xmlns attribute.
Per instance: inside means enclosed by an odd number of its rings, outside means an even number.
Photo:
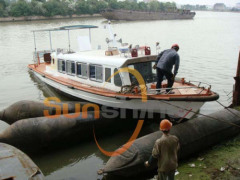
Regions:
<svg viewBox="0 0 240 180"><path fill-rule="evenodd" d="M150 47L147 46L128 46L122 43L122 40L116 40L116 35L111 35L107 38L107 50L90 50L83 49L79 52L73 52L70 49L52 49L51 32L52 31L69 31L75 29L89 29L89 39L83 39L86 44L81 47L90 46L91 41L90 29L96 26L79 25L79 26L64 26L60 28L37 30L33 31L34 40L35 32L49 31L50 47L49 51L36 51L35 42L35 57L37 64L41 64L41 60L45 63L46 72L73 80L86 85L91 85L99 88L106 88L112 91L120 91L122 86L137 85L137 79L132 74L127 72L118 72L120 68L128 67L137 70L143 77L145 83L150 87L150 83L156 82L156 70L152 69L156 60L156 55L151 55ZM108 27L111 29L110 25ZM121 46L116 44L120 43ZM115 74L116 73L116 74Z"/></svg>

